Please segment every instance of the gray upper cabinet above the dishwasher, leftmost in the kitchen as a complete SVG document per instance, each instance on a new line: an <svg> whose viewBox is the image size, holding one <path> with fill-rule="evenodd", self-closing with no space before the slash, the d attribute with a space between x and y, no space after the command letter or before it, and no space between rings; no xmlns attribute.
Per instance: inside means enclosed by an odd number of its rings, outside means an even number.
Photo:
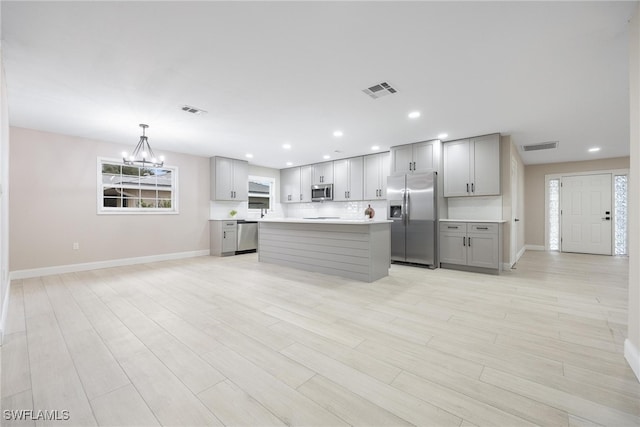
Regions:
<svg viewBox="0 0 640 427"><path fill-rule="evenodd" d="M211 200L248 200L249 163L226 157L211 157Z"/></svg>

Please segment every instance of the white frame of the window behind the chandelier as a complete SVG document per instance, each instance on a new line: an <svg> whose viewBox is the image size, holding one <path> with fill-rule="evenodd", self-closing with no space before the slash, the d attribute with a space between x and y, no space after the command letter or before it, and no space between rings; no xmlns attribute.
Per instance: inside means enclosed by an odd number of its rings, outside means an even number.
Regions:
<svg viewBox="0 0 640 427"><path fill-rule="evenodd" d="M97 158L97 185L96 185L96 210L98 215L177 215L180 213L178 206L178 167L163 165L161 169L171 171L171 207L170 208L125 208L125 207L105 207L104 206L104 183L102 182L103 164L123 165L122 159L110 157ZM140 168L135 165L134 167ZM153 168L160 169L160 168Z"/></svg>

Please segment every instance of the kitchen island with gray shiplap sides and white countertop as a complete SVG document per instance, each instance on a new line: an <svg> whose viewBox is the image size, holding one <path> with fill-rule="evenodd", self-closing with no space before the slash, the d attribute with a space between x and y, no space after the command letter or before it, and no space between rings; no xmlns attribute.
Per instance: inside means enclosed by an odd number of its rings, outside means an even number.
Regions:
<svg viewBox="0 0 640 427"><path fill-rule="evenodd" d="M389 275L391 221L261 219L258 260L364 282Z"/></svg>

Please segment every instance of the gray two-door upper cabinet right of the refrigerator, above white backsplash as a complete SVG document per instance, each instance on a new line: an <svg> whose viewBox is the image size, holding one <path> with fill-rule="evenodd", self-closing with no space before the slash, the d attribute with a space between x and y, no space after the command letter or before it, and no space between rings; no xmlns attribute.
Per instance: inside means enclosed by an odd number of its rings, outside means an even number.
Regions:
<svg viewBox="0 0 640 427"><path fill-rule="evenodd" d="M500 135L444 143L444 196L500 195Z"/></svg>

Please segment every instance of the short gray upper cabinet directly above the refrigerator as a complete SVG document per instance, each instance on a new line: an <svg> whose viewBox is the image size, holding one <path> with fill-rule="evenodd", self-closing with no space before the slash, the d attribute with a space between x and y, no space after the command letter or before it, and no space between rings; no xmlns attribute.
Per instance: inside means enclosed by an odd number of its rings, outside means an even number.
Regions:
<svg viewBox="0 0 640 427"><path fill-rule="evenodd" d="M391 147L391 174L438 170L440 141L424 141Z"/></svg>

